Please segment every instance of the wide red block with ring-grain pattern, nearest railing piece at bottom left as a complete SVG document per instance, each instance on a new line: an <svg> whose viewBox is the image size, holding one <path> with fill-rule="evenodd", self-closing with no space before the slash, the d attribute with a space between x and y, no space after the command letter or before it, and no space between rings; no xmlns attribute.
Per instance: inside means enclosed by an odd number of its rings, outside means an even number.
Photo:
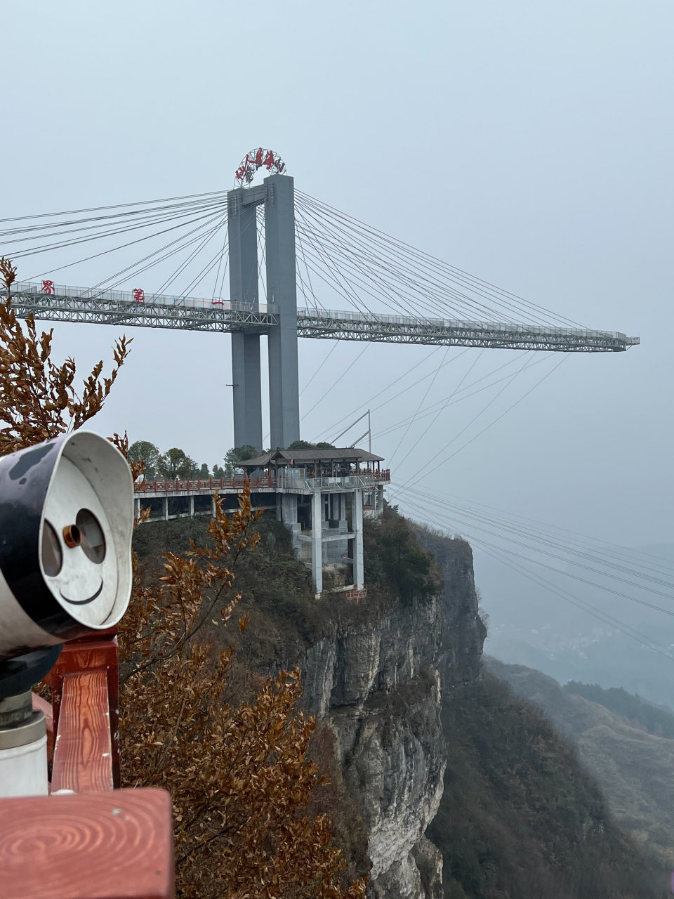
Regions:
<svg viewBox="0 0 674 899"><path fill-rule="evenodd" d="M173 899L171 797L0 799L0 883L3 899Z"/></svg>

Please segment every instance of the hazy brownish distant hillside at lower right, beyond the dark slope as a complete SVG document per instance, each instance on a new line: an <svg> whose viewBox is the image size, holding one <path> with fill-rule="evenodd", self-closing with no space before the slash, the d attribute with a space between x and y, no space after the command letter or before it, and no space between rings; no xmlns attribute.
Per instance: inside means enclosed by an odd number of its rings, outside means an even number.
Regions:
<svg viewBox="0 0 674 899"><path fill-rule="evenodd" d="M625 831L674 865L674 740L627 724L623 716L564 690L535 669L491 656L483 662L576 743L581 763L599 782Z"/></svg>

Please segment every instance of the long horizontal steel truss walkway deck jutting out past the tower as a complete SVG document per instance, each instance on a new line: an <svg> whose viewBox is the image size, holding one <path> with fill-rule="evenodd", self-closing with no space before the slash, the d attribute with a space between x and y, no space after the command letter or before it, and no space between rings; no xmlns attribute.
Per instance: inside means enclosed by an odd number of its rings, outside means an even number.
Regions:
<svg viewBox="0 0 674 899"><path fill-rule="evenodd" d="M0 291L2 296L4 291ZM165 305L151 300L82 298L17 291L13 308L20 317L82 322L93 325L133 325L183 331L228 333L240 330L268 332L279 324L275 312L244 307ZM416 343L439 346L483 347L545 352L625 352L638 338L607 331L566 328L528 328L524 325L481 325L477 322L440 321L394 316L357 316L350 313L297 310L297 336L323 340L369 343Z"/></svg>

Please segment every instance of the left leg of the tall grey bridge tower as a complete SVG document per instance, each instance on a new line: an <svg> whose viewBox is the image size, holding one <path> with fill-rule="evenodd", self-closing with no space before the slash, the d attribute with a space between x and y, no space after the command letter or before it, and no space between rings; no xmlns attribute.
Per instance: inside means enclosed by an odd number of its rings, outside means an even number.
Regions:
<svg viewBox="0 0 674 899"><path fill-rule="evenodd" d="M244 205L246 191L227 194L229 297L232 303L259 308L257 219L254 203ZM260 334L232 332L232 387L235 446L249 444L262 452Z"/></svg>

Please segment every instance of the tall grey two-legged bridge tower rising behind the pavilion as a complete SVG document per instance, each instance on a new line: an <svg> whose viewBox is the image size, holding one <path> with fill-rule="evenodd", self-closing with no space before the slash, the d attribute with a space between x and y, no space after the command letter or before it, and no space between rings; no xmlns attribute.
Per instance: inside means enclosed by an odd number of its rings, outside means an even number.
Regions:
<svg viewBox="0 0 674 899"><path fill-rule="evenodd" d="M255 187L227 193L230 300L242 310L259 311L256 208L264 207L269 311L279 325L270 328L270 446L299 440L297 377L297 282L295 269L295 185L288 175L272 174ZM261 327L232 332L235 446L262 452Z"/></svg>

